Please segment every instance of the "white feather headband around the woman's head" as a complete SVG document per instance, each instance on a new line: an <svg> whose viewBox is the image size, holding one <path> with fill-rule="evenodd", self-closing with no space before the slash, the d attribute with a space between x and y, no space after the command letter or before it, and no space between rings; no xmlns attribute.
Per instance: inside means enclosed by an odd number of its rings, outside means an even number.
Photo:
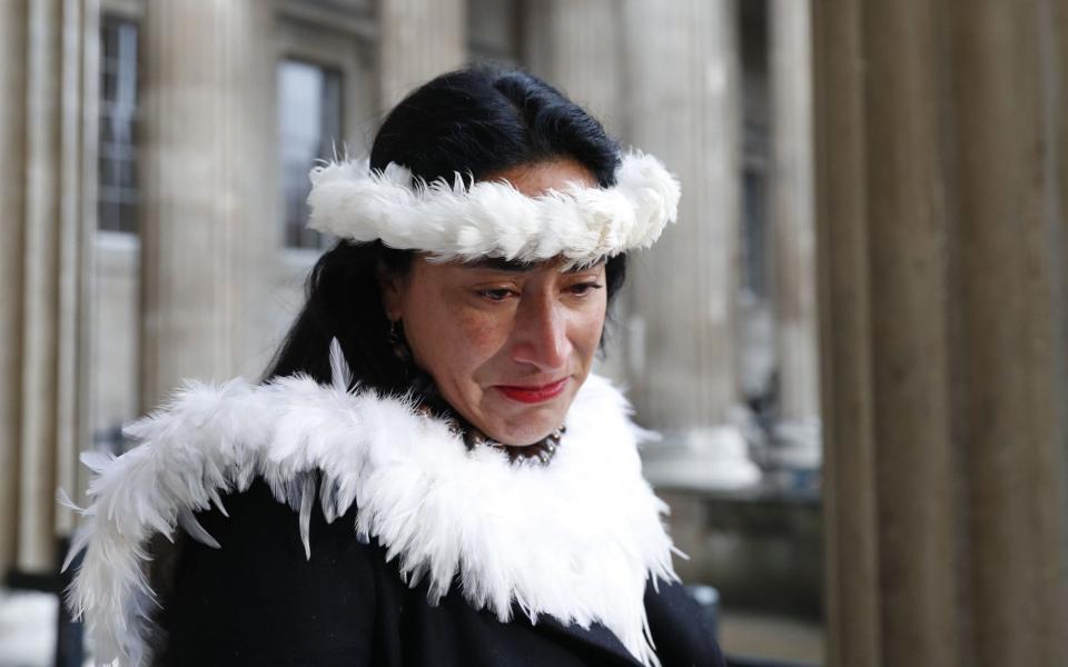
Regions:
<svg viewBox="0 0 1068 667"><path fill-rule="evenodd" d="M465 188L459 175L453 185L426 183L395 163L372 171L366 159L317 167L310 178L312 229L442 261L562 256L574 265L647 248L675 221L680 195L660 160L636 151L623 157L612 188L572 183L540 197L506 181Z"/></svg>

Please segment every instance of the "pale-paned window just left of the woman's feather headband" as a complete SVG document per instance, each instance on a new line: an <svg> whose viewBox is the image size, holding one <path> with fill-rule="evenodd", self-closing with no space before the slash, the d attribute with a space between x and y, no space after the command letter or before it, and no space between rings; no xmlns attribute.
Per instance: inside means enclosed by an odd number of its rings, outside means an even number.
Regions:
<svg viewBox="0 0 1068 667"><path fill-rule="evenodd" d="M278 127L281 132L281 183L285 197L285 243L322 248L323 235L307 229L308 171L333 158L342 137L342 74L300 60L278 66ZM338 143L337 155L344 148Z"/></svg>

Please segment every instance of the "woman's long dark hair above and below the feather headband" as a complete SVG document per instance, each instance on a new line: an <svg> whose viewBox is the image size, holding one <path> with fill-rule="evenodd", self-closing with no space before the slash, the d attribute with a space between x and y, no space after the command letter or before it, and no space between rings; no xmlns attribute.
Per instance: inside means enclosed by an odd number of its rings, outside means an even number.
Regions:
<svg viewBox="0 0 1068 667"><path fill-rule="evenodd" d="M522 165L567 157L590 169L601 187L615 185L619 145L592 116L541 79L517 70L473 67L425 83L386 117L370 151L372 169L404 165L416 178L469 185ZM388 342L379 270L405 273L414 252L380 242L342 240L308 276L307 301L267 371L267 379L305 372L330 376L329 344L337 338L362 386L402 394L406 368ZM624 255L605 266L609 303L623 286ZM601 348L603 352L604 336Z"/></svg>

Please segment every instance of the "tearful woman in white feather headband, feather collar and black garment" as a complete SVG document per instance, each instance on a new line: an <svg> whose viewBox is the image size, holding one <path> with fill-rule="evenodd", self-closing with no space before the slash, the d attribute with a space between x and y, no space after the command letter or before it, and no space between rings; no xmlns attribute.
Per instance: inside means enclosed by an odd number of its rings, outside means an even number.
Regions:
<svg viewBox="0 0 1068 667"><path fill-rule="evenodd" d="M98 659L722 664L644 434L590 375L675 180L485 69L402 101L369 165L312 178L310 223L340 240L267 380L189 386L139 447L87 460L71 605Z"/></svg>

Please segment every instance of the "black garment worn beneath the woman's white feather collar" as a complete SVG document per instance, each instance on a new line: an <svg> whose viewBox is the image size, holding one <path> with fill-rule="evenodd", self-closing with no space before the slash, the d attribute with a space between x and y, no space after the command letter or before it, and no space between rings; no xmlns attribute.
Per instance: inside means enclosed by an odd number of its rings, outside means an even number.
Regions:
<svg viewBox="0 0 1068 667"><path fill-rule="evenodd" d="M157 618L158 665L640 665L600 625L565 627L548 616L532 625L517 608L512 621L500 623L468 605L459 581L432 607L425 584L408 588L385 548L356 539L355 509L329 525L313 511L306 560L296 512L266 484L224 505L229 518L197 515L221 549L187 539L178 555ZM661 583L659 594L650 587L645 608L664 667L722 667L682 586Z"/></svg>

